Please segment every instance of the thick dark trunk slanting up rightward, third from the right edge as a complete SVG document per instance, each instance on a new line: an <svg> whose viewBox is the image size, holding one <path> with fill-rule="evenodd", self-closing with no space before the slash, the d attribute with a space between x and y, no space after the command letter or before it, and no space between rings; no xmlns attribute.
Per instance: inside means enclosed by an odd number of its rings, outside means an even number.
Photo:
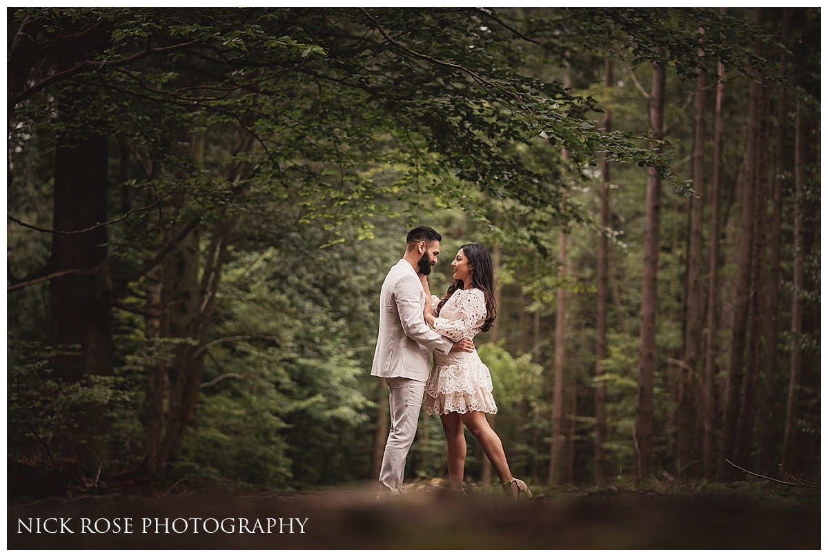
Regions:
<svg viewBox="0 0 828 557"><path fill-rule="evenodd" d="M763 23L763 8L755 8L756 24ZM762 43L757 41L753 51L761 56ZM725 459L735 458L736 437L739 426L739 414L742 411L742 389L744 382L744 345L748 322L750 279L753 254L753 216L755 209L755 191L757 183L757 165L759 136L762 133L762 81L760 70L754 69L750 83L750 101L748 109L748 145L744 187L742 189L742 236L739 243L739 275L736 279L734 294L733 340L730 343L730 363L728 372L727 404L724 410L724 427L722 431L721 458L718 475L722 480L733 477L734 468ZM744 463L741 463L744 465Z"/></svg>

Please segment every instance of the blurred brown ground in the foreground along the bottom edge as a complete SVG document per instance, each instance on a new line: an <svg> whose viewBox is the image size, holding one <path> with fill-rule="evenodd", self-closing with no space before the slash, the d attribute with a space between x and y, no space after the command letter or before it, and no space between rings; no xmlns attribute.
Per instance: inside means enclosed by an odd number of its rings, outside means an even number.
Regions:
<svg viewBox="0 0 828 557"><path fill-rule="evenodd" d="M373 486L325 492L258 496L198 494L51 498L9 503L7 549L526 549L690 550L820 549L819 492L802 501L760 501L722 495L665 495L655 492L599 492L561 497L536 494L533 501L508 501L492 493L462 496L430 484L414 485L402 498L375 498ZM64 518L74 534L18 534L18 519ZM79 533L82 518L100 530L125 524L132 533ZM142 533L142 518L213 517L235 526L233 534L192 532L194 521L178 521L167 534ZM99 519L106 518L108 521ZM279 526L267 533L238 533L258 519L298 518L304 533ZM271 524L278 524L278 520ZM60 521L41 525L54 530ZM168 522L171 524L171 522ZM204 523L208 524L208 523ZM163 529L163 528L162 528Z"/></svg>

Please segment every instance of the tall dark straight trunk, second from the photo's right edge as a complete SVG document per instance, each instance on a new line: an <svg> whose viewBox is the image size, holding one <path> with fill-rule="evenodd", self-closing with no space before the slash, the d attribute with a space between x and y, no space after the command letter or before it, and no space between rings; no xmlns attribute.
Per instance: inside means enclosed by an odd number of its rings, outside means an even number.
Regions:
<svg viewBox="0 0 828 557"><path fill-rule="evenodd" d="M791 43L791 8L785 8L782 16L782 43L789 47ZM768 279L768 308L765 331L768 342L765 346L764 357L764 395L762 401L761 440L759 442L758 471L769 474L771 470L771 451L774 446L773 435L773 395L776 394L776 366L777 345L779 343L779 288L782 275L780 264L782 252L782 176L785 174L785 130L787 128L787 99L785 80L787 79L787 55L783 51L780 55L781 80L778 85L777 98L777 134L776 157L773 169L773 192L771 194L771 208L773 218L770 222L771 232L771 262L770 278Z"/></svg>

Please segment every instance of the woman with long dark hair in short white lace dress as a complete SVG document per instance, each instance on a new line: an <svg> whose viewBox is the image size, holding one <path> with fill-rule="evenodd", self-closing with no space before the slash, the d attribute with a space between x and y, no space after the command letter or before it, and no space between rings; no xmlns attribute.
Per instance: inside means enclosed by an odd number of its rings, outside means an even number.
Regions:
<svg viewBox="0 0 828 557"><path fill-rule="evenodd" d="M442 299L431 296L426 277L426 322L452 341L474 338L488 331L495 317L492 256L483 245L467 244L451 262L454 283ZM492 376L480 361L477 351L435 352L435 365L426 383L426 412L440 414L448 443L449 488L463 489L466 444L463 426L479 441L486 457L498 472L503 491L517 499L532 492L522 480L512 477L503 443L486 421L486 413L496 414L492 397Z"/></svg>

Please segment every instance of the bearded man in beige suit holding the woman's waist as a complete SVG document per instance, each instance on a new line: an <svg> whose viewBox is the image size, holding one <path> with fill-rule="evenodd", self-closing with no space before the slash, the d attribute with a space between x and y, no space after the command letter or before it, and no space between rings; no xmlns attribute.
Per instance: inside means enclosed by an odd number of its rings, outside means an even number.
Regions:
<svg viewBox="0 0 828 557"><path fill-rule="evenodd" d="M426 292L417 273L431 273L440 254L440 240L442 236L429 226L412 229L406 237L406 253L388 271L379 295L379 335L371 375L385 379L391 413L379 472L380 496L405 491L402 477L431 371L431 351L474 351L469 339L454 343L432 331L423 318Z"/></svg>

